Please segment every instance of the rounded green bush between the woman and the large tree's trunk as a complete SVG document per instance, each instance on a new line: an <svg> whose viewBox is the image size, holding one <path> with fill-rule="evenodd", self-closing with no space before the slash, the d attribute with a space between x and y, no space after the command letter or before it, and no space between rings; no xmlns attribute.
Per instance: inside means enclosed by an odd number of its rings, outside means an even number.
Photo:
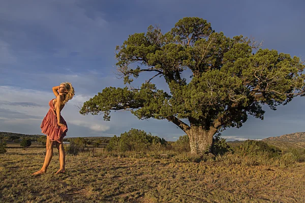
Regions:
<svg viewBox="0 0 305 203"><path fill-rule="evenodd" d="M163 138L152 136L151 133L147 134L144 130L132 128L128 132L121 133L120 137L111 138L107 150L145 152L153 146L166 144L167 142Z"/></svg>

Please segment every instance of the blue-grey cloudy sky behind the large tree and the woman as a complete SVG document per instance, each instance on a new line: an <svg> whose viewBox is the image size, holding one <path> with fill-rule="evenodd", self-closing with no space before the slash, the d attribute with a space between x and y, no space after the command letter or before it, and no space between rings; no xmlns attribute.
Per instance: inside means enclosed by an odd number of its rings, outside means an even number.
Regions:
<svg viewBox="0 0 305 203"><path fill-rule="evenodd" d="M228 37L253 37L263 41L263 49L305 59L302 0L0 0L0 5L0 131L42 134L52 87L69 81L76 94L62 111L67 138L112 137L136 128L177 140L185 132L167 120L139 120L128 111L112 112L111 121L79 114L78 106L105 87L124 87L116 77L115 47L149 25L167 32L183 17L200 17ZM222 137L259 140L305 131L304 99L277 111L264 107L264 120L249 116Z"/></svg>

